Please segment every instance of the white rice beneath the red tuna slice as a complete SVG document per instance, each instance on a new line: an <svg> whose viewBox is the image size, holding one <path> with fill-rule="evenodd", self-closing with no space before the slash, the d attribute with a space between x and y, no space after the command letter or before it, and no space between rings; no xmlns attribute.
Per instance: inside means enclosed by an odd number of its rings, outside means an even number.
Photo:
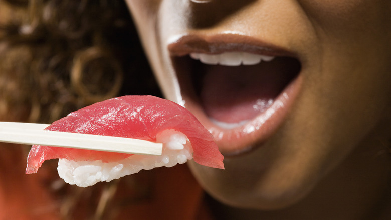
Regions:
<svg viewBox="0 0 391 220"><path fill-rule="evenodd" d="M193 149L187 137L173 129L165 130L156 136L157 142L163 143L161 156L132 155L117 162L104 163L97 161L72 161L59 159L58 174L65 182L81 187L94 185L97 182L109 182L122 176L150 170L155 167L172 167L183 164L193 158Z"/></svg>

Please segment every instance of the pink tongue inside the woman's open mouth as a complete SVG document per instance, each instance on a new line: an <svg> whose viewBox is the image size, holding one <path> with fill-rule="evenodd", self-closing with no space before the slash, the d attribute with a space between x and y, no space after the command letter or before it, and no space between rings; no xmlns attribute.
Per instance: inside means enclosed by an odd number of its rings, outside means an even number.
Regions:
<svg viewBox="0 0 391 220"><path fill-rule="evenodd" d="M201 89L206 114L220 122L239 123L266 111L295 75L280 61L206 66Z"/></svg>

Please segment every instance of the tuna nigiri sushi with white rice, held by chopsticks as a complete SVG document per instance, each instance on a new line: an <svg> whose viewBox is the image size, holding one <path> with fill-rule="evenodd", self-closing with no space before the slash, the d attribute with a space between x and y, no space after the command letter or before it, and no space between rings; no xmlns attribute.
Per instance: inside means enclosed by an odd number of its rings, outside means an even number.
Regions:
<svg viewBox="0 0 391 220"><path fill-rule="evenodd" d="M163 150L161 156L154 156L33 145L26 174L36 173L45 160L56 158L59 176L82 187L190 159L224 169L224 157L212 134L184 107L154 96L122 96L98 102L70 113L45 130L142 139L163 143Z"/></svg>

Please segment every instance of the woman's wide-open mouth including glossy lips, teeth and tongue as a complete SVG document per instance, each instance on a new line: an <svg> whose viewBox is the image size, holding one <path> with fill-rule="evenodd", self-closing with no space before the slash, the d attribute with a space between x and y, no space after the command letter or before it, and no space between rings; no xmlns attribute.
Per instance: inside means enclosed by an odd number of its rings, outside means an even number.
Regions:
<svg viewBox="0 0 391 220"><path fill-rule="evenodd" d="M169 50L185 107L225 156L270 137L298 93L301 64L286 51L200 38L182 39Z"/></svg>

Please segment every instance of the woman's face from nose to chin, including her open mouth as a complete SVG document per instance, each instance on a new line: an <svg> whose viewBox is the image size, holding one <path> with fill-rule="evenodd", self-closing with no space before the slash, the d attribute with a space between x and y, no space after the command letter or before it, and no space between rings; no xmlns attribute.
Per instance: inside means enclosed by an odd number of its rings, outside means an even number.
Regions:
<svg viewBox="0 0 391 220"><path fill-rule="evenodd" d="M302 198L391 103L391 1L127 2L166 98L226 156L225 170L190 164L225 203Z"/></svg>

